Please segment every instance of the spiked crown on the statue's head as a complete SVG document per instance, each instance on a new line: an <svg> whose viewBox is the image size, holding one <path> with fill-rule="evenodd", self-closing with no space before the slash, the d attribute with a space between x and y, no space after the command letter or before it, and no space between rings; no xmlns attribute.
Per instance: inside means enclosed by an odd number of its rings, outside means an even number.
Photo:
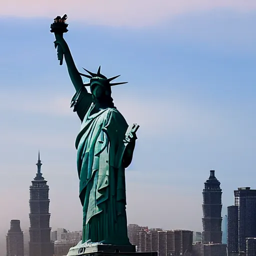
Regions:
<svg viewBox="0 0 256 256"><path fill-rule="evenodd" d="M104 76L103 74L100 73L100 66L98 67L97 73L92 73L90 71L88 71L87 69L83 68L88 74L82 74L79 73L82 76L85 76L87 78L90 79L90 81L88 83L84 83L84 86L91 86L94 83L98 83L100 85L103 86L113 86L113 85L118 85L118 84L123 84L123 83L127 83L127 82L113 82L110 83L110 81L114 80L115 78L119 77L119 75L107 78L106 76Z"/></svg>

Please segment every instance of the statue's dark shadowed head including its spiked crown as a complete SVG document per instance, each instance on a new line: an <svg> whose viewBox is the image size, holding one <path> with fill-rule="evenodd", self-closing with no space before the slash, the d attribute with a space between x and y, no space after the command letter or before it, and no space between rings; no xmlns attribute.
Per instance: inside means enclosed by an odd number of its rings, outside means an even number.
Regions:
<svg viewBox="0 0 256 256"><path fill-rule="evenodd" d="M112 101L111 86L126 83L126 82L110 83L110 81L114 80L120 75L107 78L106 76L100 73L100 66L98 67L97 73L92 73L85 68L83 69L87 73L89 73L89 75L82 74L82 73L80 73L80 75L90 79L90 81L88 83L85 83L84 86L90 86L90 92L93 98L97 99L97 101L99 102L104 102L109 100Z"/></svg>

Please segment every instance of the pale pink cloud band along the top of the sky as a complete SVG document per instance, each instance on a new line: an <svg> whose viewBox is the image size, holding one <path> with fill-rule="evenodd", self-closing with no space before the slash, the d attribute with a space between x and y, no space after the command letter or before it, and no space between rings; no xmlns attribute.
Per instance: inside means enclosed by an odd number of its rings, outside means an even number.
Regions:
<svg viewBox="0 0 256 256"><path fill-rule="evenodd" d="M147 26L194 11L225 8L234 11L256 9L254 0L11 0L0 2L0 14L17 17L49 17L67 13L71 20L111 26Z"/></svg>

